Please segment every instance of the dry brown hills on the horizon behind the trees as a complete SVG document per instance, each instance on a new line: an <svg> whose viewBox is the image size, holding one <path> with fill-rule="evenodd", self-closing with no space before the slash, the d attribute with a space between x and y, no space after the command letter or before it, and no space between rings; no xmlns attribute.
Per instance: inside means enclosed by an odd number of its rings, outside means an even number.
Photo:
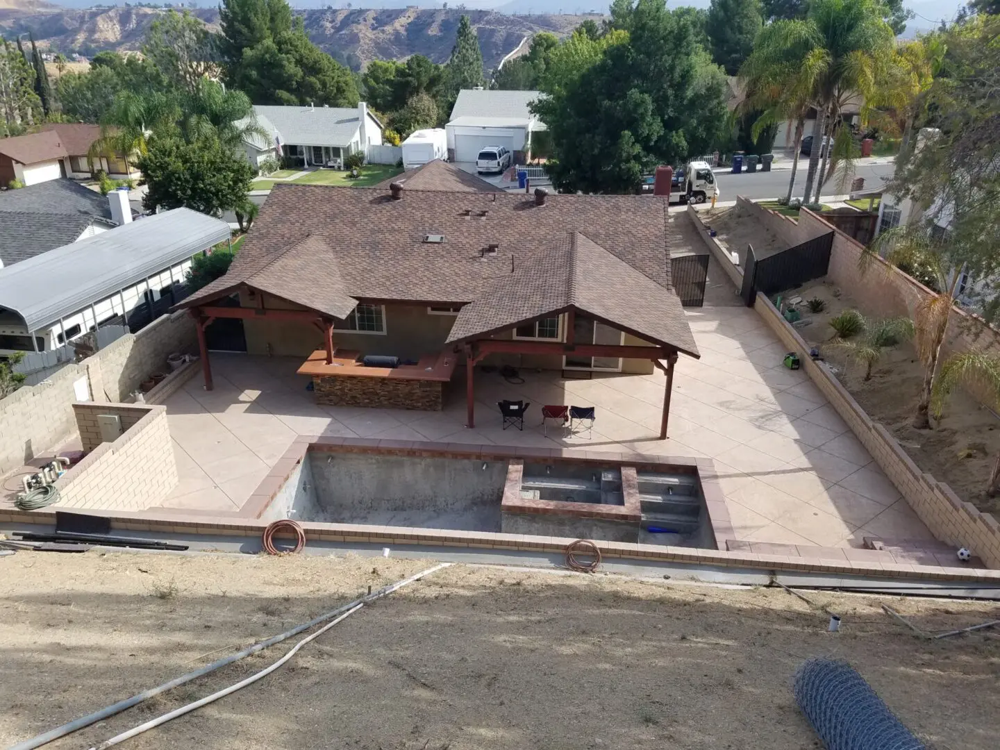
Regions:
<svg viewBox="0 0 1000 750"><path fill-rule="evenodd" d="M18 6L7 16L0 10L0 33L11 38L31 31L41 47L84 55L101 50L139 49L149 24L164 12L123 7L35 11L30 5L32 2L0 0L4 6ZM218 10L202 8L193 12L213 30L218 29ZM525 36L540 31L565 36L584 18L576 15L510 16L489 10L457 9L299 11L313 42L354 68L370 60L402 59L414 54L444 62L451 53L455 30L463 13L469 16L479 35L487 68L495 68Z"/></svg>

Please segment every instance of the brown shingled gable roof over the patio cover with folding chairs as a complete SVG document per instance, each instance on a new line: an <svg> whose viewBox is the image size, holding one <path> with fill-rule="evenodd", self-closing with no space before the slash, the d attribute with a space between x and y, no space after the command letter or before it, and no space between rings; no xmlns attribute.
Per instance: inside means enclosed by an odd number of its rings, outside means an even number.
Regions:
<svg viewBox="0 0 1000 750"><path fill-rule="evenodd" d="M693 356L698 348L673 291L639 273L580 232L466 305L448 343L511 328L570 307L655 344Z"/></svg>

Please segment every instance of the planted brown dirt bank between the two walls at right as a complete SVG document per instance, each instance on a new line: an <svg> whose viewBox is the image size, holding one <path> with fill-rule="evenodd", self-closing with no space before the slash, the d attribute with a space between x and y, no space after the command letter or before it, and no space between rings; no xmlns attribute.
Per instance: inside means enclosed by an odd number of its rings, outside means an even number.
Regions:
<svg viewBox="0 0 1000 750"><path fill-rule="evenodd" d="M862 313L864 309L843 290L826 282L812 282L782 296L788 300L802 297L803 304L796 308L812 323L799 328L799 333L810 344L821 347L823 356L840 369L838 377L858 404L872 419L885 425L918 466L947 482L959 497L980 510L1000 513L1000 499L986 497L985 493L1000 453L1000 420L965 392L956 391L933 430L914 429L910 420L923 386L924 368L913 346L903 343L886 350L872 371L872 379L865 382L863 366L835 349L822 347L834 335L828 325L830 318L848 308ZM814 297L826 302L823 312L808 311L805 301Z"/></svg>

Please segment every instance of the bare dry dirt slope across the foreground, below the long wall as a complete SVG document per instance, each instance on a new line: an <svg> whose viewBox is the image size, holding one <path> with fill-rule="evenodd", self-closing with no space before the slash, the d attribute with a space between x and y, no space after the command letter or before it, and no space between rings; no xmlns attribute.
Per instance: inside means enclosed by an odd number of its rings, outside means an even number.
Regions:
<svg viewBox="0 0 1000 750"><path fill-rule="evenodd" d="M0 558L0 746L190 671L431 563L19 552ZM454 566L274 674L123 748L814 748L792 676L849 660L911 729L994 750L1000 637L923 641L996 605ZM47 747L86 748L269 665L292 642Z"/></svg>

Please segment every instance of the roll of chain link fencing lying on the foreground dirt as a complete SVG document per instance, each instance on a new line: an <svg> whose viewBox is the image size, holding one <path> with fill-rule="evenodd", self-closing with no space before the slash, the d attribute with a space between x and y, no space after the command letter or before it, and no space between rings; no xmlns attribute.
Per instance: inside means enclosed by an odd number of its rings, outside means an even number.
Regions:
<svg viewBox="0 0 1000 750"><path fill-rule="evenodd" d="M793 689L827 750L927 750L846 662L809 659Z"/></svg>

